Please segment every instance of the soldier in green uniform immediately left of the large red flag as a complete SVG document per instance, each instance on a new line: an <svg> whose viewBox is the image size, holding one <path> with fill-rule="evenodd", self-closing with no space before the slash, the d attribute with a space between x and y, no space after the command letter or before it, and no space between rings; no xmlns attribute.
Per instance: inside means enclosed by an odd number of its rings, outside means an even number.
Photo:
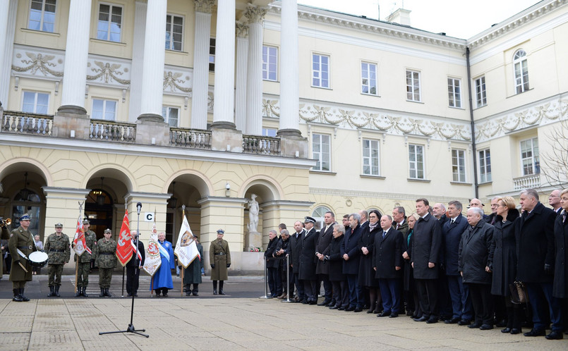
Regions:
<svg viewBox="0 0 568 351"><path fill-rule="evenodd" d="M112 296L111 287L112 270L116 268L116 241L111 239L112 231L104 230L104 238L99 239L95 247L95 264L99 267L99 297Z"/></svg>

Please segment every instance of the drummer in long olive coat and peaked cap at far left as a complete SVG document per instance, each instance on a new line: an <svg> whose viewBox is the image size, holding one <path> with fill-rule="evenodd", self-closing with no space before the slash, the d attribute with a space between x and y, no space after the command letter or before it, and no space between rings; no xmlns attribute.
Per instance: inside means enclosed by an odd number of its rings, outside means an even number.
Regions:
<svg viewBox="0 0 568 351"><path fill-rule="evenodd" d="M30 301L24 296L25 282L32 280L32 265L28 261L28 256L36 251L35 242L30 227L30 215L24 214L20 217L20 226L14 230L8 240L8 248L12 256L12 269L10 271L10 281L14 292L13 301ZM20 265L21 264L21 265Z"/></svg>

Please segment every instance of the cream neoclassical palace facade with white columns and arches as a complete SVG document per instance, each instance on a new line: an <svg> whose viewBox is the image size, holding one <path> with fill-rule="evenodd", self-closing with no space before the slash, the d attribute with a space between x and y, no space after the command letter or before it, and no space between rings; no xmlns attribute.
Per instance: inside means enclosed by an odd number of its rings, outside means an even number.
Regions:
<svg viewBox="0 0 568 351"><path fill-rule="evenodd" d="M567 4L458 39L404 9L389 23L296 0L2 1L0 215L73 235L84 202L102 236L128 209L143 240L155 220L175 243L184 209L205 256L223 228L248 273L250 247L306 215L546 194L566 182L543 160L566 144Z"/></svg>

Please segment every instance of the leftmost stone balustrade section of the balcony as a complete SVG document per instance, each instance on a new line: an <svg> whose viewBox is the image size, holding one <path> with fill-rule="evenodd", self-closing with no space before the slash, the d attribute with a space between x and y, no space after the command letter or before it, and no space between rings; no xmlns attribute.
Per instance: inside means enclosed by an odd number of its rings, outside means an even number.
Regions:
<svg viewBox="0 0 568 351"><path fill-rule="evenodd" d="M39 113L4 111L2 132L30 135L52 135L53 116Z"/></svg>

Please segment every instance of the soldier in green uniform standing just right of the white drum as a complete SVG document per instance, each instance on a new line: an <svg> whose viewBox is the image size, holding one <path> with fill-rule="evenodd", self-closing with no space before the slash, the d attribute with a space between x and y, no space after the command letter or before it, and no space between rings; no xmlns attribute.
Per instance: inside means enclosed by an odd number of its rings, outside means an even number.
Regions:
<svg viewBox="0 0 568 351"><path fill-rule="evenodd" d="M45 241L45 251L47 252L47 257L49 258L49 264L47 265L47 274L49 275L49 294L47 297L56 296L59 297L59 287L61 286L61 273L63 272L63 266L69 261L71 257L71 244L69 243L69 237L64 233L63 224L57 223L55 225L55 233L49 235Z"/></svg>

